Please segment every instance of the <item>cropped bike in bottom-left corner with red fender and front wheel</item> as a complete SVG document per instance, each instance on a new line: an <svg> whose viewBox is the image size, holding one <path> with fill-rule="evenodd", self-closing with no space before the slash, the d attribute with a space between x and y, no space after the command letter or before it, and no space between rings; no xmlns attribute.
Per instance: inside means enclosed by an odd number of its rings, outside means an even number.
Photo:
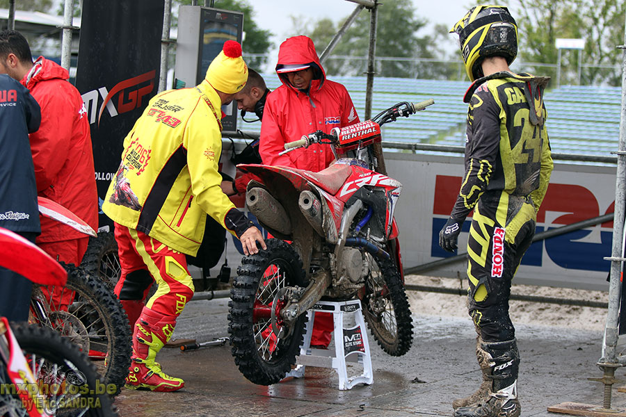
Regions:
<svg viewBox="0 0 626 417"><path fill-rule="evenodd" d="M0 227L0 265L42 285L67 272L28 240ZM85 352L47 327L0 317L0 415L118 416L107 386Z"/></svg>

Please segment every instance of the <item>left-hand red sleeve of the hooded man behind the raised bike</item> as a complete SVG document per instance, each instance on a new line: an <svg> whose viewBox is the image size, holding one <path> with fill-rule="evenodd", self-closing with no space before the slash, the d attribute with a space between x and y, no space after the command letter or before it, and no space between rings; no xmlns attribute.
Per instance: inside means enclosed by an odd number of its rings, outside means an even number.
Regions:
<svg viewBox="0 0 626 417"><path fill-rule="evenodd" d="M294 167L289 154L278 155L284 151L284 139L278 120L278 102L274 95L268 95L263 112L261 124L261 140L259 141L259 154L265 165L282 165Z"/></svg>

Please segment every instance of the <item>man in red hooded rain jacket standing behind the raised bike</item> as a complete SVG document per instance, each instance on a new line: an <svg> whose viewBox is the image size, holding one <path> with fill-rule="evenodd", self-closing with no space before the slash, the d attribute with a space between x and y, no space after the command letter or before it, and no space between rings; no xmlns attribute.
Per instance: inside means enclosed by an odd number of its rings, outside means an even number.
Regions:
<svg viewBox="0 0 626 417"><path fill-rule="evenodd" d="M282 165L319 172L333 161L330 145L310 145L279 156L284 144L314 131L358 123L359 116L344 85L326 79L313 41L288 38L278 51L276 72L282 85L267 96L261 124L259 154L265 165ZM316 313L311 345L328 347L333 323L330 313Z"/></svg>

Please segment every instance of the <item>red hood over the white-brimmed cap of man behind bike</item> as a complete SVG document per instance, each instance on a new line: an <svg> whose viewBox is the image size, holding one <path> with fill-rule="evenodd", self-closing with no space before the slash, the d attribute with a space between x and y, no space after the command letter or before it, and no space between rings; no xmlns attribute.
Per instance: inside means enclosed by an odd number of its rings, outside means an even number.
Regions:
<svg viewBox="0 0 626 417"><path fill-rule="evenodd" d="M322 88L324 81L326 81L326 72L324 72L321 63L319 62L317 52L315 51L315 45L309 37L304 35L293 36L291 38L287 38L287 40L280 44L276 70L282 68L283 65L292 64L310 64L313 68L314 74L316 74L315 78L317 78L311 81L310 91L314 92ZM280 81L282 81L287 88L296 90L287 80L287 74L278 74L278 78L280 78ZM296 92L297 91L298 90L296 90Z"/></svg>

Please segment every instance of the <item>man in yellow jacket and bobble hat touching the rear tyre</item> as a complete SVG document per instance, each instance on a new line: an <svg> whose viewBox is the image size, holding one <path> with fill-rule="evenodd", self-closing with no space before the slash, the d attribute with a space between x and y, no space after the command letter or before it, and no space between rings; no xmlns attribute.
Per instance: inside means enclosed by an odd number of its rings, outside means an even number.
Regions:
<svg viewBox="0 0 626 417"><path fill-rule="evenodd" d="M163 373L155 357L193 295L185 254L198 251L207 214L241 240L245 254L257 253L257 242L266 248L260 231L220 189L218 173L220 107L247 79L241 46L229 40L202 83L152 98L124 140L102 210L115 222L119 247L122 275L115 293L134 324L128 388L184 386ZM143 306L152 279L159 287Z"/></svg>

